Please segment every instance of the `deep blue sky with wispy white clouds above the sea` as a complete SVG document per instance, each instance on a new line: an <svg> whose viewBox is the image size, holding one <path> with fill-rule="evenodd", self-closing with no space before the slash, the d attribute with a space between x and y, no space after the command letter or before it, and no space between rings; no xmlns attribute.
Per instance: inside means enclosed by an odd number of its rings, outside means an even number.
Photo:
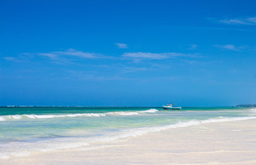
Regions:
<svg viewBox="0 0 256 165"><path fill-rule="evenodd" d="M255 1L0 1L0 105L256 103Z"/></svg>

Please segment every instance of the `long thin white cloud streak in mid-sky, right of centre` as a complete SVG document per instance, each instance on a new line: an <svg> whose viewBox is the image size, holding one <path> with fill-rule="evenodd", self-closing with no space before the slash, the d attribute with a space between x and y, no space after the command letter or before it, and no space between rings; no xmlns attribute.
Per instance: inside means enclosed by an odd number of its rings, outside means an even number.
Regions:
<svg viewBox="0 0 256 165"><path fill-rule="evenodd" d="M190 57L190 58L199 58L199 56L197 56L196 54L182 54L182 53L175 53L175 52L166 52L166 53L126 52L122 56L126 58L155 59L155 60L182 57L182 56Z"/></svg>

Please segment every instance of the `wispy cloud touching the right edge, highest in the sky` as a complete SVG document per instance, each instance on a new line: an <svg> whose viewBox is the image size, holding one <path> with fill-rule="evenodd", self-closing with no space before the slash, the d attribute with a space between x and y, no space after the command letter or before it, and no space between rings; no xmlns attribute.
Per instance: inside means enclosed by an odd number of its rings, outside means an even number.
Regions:
<svg viewBox="0 0 256 165"><path fill-rule="evenodd" d="M256 25L256 17L221 19L218 22L230 25Z"/></svg>

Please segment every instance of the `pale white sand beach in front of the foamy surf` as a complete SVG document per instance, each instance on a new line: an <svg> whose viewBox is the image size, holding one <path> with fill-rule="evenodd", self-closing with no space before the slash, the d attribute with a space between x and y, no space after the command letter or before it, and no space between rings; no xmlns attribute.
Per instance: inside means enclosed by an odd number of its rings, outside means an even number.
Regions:
<svg viewBox="0 0 256 165"><path fill-rule="evenodd" d="M256 164L256 120L214 122L0 164Z"/></svg>

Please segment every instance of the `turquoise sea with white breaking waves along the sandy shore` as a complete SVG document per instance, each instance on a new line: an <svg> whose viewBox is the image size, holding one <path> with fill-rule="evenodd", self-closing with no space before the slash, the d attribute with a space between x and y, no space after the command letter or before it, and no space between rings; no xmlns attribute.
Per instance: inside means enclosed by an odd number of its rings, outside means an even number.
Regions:
<svg viewBox="0 0 256 165"><path fill-rule="evenodd" d="M255 109L233 107L0 107L0 159L251 118L256 118Z"/></svg>

